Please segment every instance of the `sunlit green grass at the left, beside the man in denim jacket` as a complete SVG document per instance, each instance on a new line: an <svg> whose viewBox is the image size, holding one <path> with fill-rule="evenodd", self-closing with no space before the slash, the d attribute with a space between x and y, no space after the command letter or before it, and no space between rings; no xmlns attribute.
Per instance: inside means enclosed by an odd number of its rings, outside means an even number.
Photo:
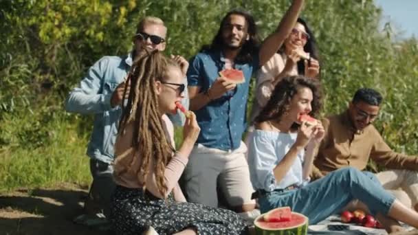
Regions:
<svg viewBox="0 0 418 235"><path fill-rule="evenodd" d="M79 136L74 124L52 121L50 142L36 148L0 148L0 191L38 188L71 182L87 186L91 181L87 136Z"/></svg>

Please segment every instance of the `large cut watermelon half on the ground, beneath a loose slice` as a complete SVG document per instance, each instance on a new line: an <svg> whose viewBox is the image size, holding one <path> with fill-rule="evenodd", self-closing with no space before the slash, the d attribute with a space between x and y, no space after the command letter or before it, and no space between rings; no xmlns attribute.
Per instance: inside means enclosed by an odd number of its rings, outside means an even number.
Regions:
<svg viewBox="0 0 418 235"><path fill-rule="evenodd" d="M267 212L268 213L268 212ZM291 212L290 221L267 222L264 221L265 214L261 214L254 221L256 235L279 235L279 234L308 234L309 219L303 214Z"/></svg>

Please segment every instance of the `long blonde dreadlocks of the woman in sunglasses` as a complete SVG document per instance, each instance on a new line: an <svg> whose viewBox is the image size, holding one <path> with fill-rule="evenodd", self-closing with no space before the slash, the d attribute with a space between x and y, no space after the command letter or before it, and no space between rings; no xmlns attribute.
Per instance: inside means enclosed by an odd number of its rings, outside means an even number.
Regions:
<svg viewBox="0 0 418 235"><path fill-rule="evenodd" d="M155 172L157 188L162 195L167 191L164 169L175 149L164 129L164 113L159 111L154 84L157 80L164 81L168 76L169 67L178 65L157 50L148 52L144 49L136 56L126 80L124 93L129 82L131 87L126 104L122 104L122 117L118 128L119 133L124 133L127 124L133 122L132 146L134 153L141 159L140 168L134 170L138 179L143 179L140 183L145 188L144 181L150 169L151 158L155 159L155 165L151 167Z"/></svg>

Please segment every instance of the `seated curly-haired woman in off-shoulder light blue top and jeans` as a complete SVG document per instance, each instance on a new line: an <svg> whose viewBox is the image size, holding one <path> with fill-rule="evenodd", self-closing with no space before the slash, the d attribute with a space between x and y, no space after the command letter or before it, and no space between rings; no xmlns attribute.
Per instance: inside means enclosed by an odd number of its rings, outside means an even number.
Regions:
<svg viewBox="0 0 418 235"><path fill-rule="evenodd" d="M417 212L386 192L371 173L342 168L309 182L324 128L319 121L300 122L298 117L315 116L320 107L318 80L293 76L278 82L256 117L248 161L261 212L289 206L314 224L359 199L381 222L395 219L418 227Z"/></svg>

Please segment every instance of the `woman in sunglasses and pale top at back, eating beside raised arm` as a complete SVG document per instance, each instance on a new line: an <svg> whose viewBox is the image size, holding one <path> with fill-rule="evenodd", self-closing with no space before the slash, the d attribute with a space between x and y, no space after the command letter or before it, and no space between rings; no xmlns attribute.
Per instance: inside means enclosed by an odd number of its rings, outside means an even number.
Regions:
<svg viewBox="0 0 418 235"><path fill-rule="evenodd" d="M274 86L286 76L305 75L319 78L318 50L314 34L307 23L298 18L281 49L259 70L251 122L272 96Z"/></svg>

